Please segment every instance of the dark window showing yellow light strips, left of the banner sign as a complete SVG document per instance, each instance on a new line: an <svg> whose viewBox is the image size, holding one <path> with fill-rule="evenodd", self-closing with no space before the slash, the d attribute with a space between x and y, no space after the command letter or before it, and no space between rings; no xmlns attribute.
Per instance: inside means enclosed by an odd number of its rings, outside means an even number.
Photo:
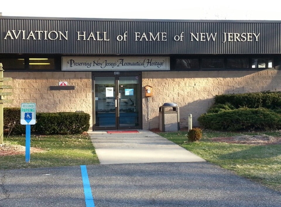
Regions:
<svg viewBox="0 0 281 207"><path fill-rule="evenodd" d="M53 70L54 58L28 58L30 70Z"/></svg>

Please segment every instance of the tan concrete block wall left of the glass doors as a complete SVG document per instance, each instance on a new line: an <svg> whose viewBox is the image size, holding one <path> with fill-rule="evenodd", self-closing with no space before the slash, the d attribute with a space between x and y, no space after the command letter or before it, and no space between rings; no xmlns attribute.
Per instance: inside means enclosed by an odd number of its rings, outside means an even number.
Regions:
<svg viewBox="0 0 281 207"><path fill-rule="evenodd" d="M92 73L91 72L4 72L4 77L13 81L4 82L12 85L12 103L4 107L21 107L21 103L36 103L37 112L75 112L84 111L91 115L92 123ZM74 90L50 90L58 86L59 81L74 85Z"/></svg>

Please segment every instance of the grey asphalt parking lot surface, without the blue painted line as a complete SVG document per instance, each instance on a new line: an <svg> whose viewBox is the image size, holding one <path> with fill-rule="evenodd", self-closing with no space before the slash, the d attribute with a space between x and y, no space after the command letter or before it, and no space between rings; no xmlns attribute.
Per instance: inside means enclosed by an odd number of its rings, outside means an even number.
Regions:
<svg viewBox="0 0 281 207"><path fill-rule="evenodd" d="M281 193L208 162L86 168L93 196L93 205L87 207L281 206ZM1 170L0 206L85 207L81 168Z"/></svg>

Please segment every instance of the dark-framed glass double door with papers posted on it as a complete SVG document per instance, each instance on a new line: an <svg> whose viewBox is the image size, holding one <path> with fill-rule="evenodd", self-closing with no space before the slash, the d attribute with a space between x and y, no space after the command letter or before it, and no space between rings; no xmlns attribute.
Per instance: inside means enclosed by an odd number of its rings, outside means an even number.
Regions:
<svg viewBox="0 0 281 207"><path fill-rule="evenodd" d="M140 74L94 74L93 130L141 129Z"/></svg>

